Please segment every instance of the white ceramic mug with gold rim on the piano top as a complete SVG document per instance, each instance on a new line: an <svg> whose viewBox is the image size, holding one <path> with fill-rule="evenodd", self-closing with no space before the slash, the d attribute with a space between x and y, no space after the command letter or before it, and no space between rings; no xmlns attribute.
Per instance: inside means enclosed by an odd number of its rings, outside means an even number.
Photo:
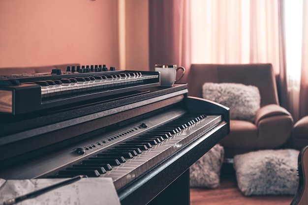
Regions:
<svg viewBox="0 0 308 205"><path fill-rule="evenodd" d="M183 70L181 77L176 80L177 71ZM160 86L173 86L174 83L178 82L183 78L185 74L184 67L177 67L177 65L155 65L155 71L160 72Z"/></svg>

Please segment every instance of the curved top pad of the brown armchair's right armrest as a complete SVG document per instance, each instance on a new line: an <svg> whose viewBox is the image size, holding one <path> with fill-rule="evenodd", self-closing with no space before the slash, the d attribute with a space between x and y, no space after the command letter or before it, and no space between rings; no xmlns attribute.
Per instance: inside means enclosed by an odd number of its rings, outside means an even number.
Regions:
<svg viewBox="0 0 308 205"><path fill-rule="evenodd" d="M277 104L270 104L260 108L255 117L255 124L258 126L260 120L274 116L291 116L291 114L283 107ZM292 117L292 116L291 116Z"/></svg>

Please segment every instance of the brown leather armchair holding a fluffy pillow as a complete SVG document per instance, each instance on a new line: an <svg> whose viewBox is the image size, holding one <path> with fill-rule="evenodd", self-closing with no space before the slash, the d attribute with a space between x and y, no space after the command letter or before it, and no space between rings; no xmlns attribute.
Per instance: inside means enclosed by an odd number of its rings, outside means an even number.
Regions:
<svg viewBox="0 0 308 205"><path fill-rule="evenodd" d="M192 64L188 73L188 95L202 96L202 86L211 83L240 83L259 89L261 102L255 121L230 120L230 134L220 145L225 158L252 150L278 148L290 138L293 117L279 106L272 64Z"/></svg>

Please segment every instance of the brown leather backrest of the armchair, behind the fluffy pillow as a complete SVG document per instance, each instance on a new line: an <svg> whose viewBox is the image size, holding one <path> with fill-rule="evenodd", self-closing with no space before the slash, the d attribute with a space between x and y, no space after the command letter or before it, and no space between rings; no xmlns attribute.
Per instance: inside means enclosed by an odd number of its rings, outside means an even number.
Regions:
<svg viewBox="0 0 308 205"><path fill-rule="evenodd" d="M188 95L202 98L202 86L206 82L256 86L261 96L261 107L279 104L276 78L270 63L192 64L187 78Z"/></svg>

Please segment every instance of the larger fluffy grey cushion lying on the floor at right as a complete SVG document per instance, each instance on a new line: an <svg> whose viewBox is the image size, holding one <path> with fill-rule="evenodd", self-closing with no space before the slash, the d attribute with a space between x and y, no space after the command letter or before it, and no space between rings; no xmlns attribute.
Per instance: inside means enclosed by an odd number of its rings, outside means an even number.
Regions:
<svg viewBox="0 0 308 205"><path fill-rule="evenodd" d="M238 187L245 196L293 195L297 191L299 151L259 150L234 156Z"/></svg>

